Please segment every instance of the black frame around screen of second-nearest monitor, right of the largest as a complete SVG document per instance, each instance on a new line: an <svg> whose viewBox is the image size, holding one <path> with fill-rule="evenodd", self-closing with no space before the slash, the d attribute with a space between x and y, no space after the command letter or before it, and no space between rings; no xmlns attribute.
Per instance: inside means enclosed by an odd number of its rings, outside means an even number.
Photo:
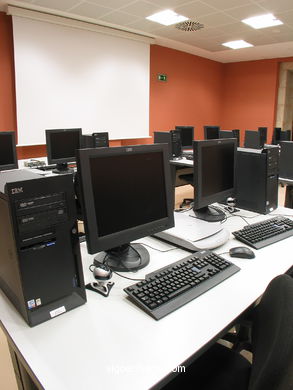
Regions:
<svg viewBox="0 0 293 390"><path fill-rule="evenodd" d="M202 148L206 146L216 146L219 144L231 144L234 145L234 169L233 169L233 187L225 191L220 191L210 196L202 195L202 179L203 175L207 174L202 172ZM236 193L236 156L237 156L237 140L236 138L221 138L211 140L201 140L193 142L193 180L194 180L194 209L201 209L207 207L215 202L223 201L229 196L233 196Z"/></svg>

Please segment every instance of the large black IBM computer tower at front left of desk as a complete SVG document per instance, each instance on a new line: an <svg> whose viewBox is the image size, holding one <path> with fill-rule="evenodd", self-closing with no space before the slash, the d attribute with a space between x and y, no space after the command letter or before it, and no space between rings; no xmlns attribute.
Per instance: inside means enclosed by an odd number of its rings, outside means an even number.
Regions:
<svg viewBox="0 0 293 390"><path fill-rule="evenodd" d="M86 302L72 175L0 175L0 287L30 326Z"/></svg>

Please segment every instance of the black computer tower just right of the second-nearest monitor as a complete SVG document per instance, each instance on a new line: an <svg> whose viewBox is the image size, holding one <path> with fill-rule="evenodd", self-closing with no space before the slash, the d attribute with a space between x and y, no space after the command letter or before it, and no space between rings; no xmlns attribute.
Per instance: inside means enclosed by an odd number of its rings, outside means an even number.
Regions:
<svg viewBox="0 0 293 390"><path fill-rule="evenodd" d="M236 159L236 205L268 214L278 207L279 148L238 148Z"/></svg>

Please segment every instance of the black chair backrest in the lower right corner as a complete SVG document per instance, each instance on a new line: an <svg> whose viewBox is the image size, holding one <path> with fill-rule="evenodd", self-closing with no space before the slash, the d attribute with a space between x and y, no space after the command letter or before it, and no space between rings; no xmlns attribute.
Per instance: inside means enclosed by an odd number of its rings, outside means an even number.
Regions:
<svg viewBox="0 0 293 390"><path fill-rule="evenodd" d="M264 292L253 321L249 390L293 389L293 278L280 275Z"/></svg>

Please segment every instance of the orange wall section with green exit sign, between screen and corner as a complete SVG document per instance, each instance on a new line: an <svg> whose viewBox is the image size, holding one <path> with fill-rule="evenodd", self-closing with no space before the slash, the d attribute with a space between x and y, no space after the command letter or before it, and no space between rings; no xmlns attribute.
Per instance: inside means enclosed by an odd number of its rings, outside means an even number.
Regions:
<svg viewBox="0 0 293 390"><path fill-rule="evenodd" d="M150 135L176 125L217 125L221 118L223 64L162 46L151 46ZM167 75L167 82L157 74Z"/></svg>

